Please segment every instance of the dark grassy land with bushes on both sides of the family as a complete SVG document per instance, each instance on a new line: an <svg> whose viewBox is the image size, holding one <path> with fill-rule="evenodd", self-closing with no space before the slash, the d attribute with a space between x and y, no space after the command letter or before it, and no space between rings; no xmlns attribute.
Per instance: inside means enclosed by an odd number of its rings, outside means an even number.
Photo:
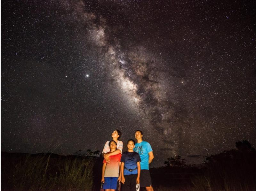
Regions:
<svg viewBox="0 0 256 191"><path fill-rule="evenodd" d="M102 160L93 156L1 152L1 190L98 191ZM255 190L255 150L224 151L206 160L201 168L191 165L151 168L155 190Z"/></svg>

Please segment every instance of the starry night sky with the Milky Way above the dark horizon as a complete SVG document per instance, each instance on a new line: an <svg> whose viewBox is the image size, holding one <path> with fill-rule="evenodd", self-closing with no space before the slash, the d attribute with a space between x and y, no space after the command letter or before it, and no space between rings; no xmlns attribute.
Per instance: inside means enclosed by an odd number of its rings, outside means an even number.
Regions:
<svg viewBox="0 0 256 191"><path fill-rule="evenodd" d="M114 129L142 130L151 166L255 145L255 2L2 1L1 151L102 150Z"/></svg>

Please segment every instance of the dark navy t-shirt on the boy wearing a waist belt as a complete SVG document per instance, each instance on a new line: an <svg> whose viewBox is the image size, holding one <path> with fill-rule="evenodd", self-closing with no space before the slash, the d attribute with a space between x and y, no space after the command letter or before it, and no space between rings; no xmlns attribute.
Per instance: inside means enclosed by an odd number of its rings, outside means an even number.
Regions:
<svg viewBox="0 0 256 191"><path fill-rule="evenodd" d="M140 162L140 155L136 152L124 152L121 157L121 162L124 163L124 167L128 169L137 168L137 162ZM132 172L124 168L124 175L138 174L138 169Z"/></svg>

